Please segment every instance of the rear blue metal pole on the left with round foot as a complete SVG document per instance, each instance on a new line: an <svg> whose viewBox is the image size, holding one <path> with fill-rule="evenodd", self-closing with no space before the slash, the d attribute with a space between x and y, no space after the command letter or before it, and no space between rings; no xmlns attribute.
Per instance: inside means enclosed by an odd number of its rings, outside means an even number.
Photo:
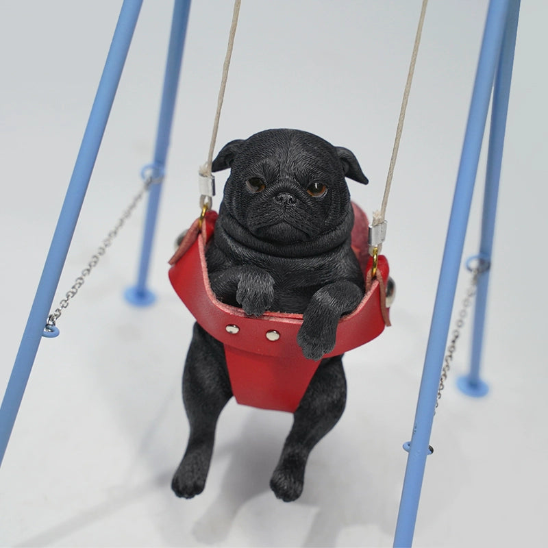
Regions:
<svg viewBox="0 0 548 548"><path fill-rule="evenodd" d="M137 284L127 288L124 294L127 301L137 306L147 306L155 300L153 292L147 289L147 277L149 273L156 219L158 217L162 179L164 177L166 157L169 149L173 112L175 111L175 98L177 97L177 86L179 84L179 74L181 72L189 11L190 0L175 0L173 21L171 23L171 36L169 39L169 51L166 62L166 73L164 77L164 90L162 92L162 105L160 107L160 119L158 121L158 132L156 135L154 161L149 166L151 169L151 177L157 182L151 186L149 191L147 219L145 221L145 231L142 238Z"/></svg>

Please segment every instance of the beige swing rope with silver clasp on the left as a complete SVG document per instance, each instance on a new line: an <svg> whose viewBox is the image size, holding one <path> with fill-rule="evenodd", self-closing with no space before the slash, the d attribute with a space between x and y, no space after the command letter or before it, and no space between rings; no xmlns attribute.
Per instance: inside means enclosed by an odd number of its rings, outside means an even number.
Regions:
<svg viewBox="0 0 548 548"><path fill-rule="evenodd" d="M212 197L215 195L215 179L212 175L212 162L213 151L215 148L215 142L217 140L217 132L219 131L219 120L221 119L221 109L223 108L223 101L225 99L225 90L227 87L228 69L230 66L230 60L232 59L232 49L234 48L234 38L236 36L236 27L238 27L238 16L240 14L241 0L234 0L234 11L232 13L232 23L230 25L230 32L228 35L227 53L225 55L225 62L223 64L223 75L221 76L221 88L219 89L219 97L217 98L217 110L215 112L215 119L213 122L213 130L210 141L210 149L208 153L208 160L199 169L199 188L201 193L200 207L203 214L206 210L212 206ZM204 210L204 208L207 208ZM203 216L203 215L202 215Z"/></svg>

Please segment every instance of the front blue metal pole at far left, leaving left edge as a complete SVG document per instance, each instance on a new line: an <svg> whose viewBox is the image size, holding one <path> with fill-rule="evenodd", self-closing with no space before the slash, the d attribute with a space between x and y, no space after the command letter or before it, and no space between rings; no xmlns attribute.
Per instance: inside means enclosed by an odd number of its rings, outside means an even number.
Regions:
<svg viewBox="0 0 548 548"><path fill-rule="evenodd" d="M23 393L36 358L55 290L69 252L79 212L86 195L93 166L99 152L116 88L131 44L142 0L125 0L114 31L103 75L91 109L82 145L66 191L57 226L51 240L34 303L0 407L0 464L8 445Z"/></svg>

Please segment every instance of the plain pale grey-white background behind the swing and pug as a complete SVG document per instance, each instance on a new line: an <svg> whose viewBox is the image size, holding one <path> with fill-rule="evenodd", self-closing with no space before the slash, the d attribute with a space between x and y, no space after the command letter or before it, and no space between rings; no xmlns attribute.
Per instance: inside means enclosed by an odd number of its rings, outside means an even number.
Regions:
<svg viewBox="0 0 548 548"><path fill-rule="evenodd" d="M314 449L305 490L269 490L291 416L231 401L205 492L171 493L188 426L180 378L192 318L167 279L173 240L197 216L232 3L190 12L150 284L128 306L141 206L42 340L0 469L0 544L21 546L391 545L486 1L432 1L388 205L393 327L347 354L347 410ZM7 384L71 177L119 2L0 2L0 388ZM172 3L145 2L92 175L58 303L140 188L151 161ZM379 207L416 22L415 1L244 1L218 150L269 127L348 147ZM432 434L415 545L534 546L548 511L545 374L548 5L519 25L484 347L490 393L470 399L459 343ZM465 255L477 251L484 154ZM222 174L218 178L223 184ZM217 201L218 203L218 201ZM457 306L468 284L459 282Z"/></svg>

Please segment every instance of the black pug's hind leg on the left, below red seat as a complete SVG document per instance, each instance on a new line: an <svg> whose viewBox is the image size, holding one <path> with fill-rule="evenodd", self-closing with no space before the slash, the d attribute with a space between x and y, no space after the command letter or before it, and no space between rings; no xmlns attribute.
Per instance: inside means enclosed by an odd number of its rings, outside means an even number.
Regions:
<svg viewBox="0 0 548 548"><path fill-rule="evenodd" d="M223 345L196 324L183 374L190 436L171 482L177 497L190 499L206 486L217 419L231 397Z"/></svg>

